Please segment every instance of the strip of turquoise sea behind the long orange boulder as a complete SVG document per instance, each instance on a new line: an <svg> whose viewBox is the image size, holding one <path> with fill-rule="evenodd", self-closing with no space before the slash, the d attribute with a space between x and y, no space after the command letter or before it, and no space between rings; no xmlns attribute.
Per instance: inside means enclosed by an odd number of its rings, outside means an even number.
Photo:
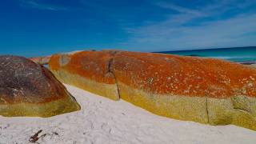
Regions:
<svg viewBox="0 0 256 144"><path fill-rule="evenodd" d="M221 58L232 62L256 62L256 46L207 50L162 51L158 53L198 56L205 58Z"/></svg>

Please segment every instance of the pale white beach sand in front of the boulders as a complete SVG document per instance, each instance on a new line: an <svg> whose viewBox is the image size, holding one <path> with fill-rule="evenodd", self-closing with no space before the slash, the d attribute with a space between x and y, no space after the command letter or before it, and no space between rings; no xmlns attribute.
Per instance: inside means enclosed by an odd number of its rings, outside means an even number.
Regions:
<svg viewBox="0 0 256 144"><path fill-rule="evenodd" d="M207 126L150 114L124 101L114 102L67 86L82 110L52 118L0 117L0 143L255 143L256 131Z"/></svg>

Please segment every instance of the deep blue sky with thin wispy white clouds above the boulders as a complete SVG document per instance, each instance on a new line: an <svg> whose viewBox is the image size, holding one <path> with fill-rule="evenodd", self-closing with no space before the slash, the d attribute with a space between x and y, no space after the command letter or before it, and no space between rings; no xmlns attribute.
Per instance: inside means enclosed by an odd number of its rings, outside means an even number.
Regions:
<svg viewBox="0 0 256 144"><path fill-rule="evenodd" d="M256 0L1 0L0 54L256 46Z"/></svg>

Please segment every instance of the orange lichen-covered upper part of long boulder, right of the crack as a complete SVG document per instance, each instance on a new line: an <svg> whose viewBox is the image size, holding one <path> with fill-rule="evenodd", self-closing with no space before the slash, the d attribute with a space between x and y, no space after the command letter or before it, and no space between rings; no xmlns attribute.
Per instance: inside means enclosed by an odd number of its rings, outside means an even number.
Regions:
<svg viewBox="0 0 256 144"><path fill-rule="evenodd" d="M186 94L193 97L230 98L237 94L256 97L255 70L212 58L170 54L119 52L114 72L129 86L156 94ZM134 81L134 79L136 81Z"/></svg>

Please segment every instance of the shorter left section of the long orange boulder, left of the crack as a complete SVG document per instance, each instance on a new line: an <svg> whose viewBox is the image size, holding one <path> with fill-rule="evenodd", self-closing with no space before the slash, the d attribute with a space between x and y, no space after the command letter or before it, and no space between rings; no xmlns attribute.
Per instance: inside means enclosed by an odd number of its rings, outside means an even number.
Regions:
<svg viewBox="0 0 256 144"><path fill-rule="evenodd" d="M113 52L80 51L54 54L49 67L62 82L114 100L119 99L118 87L110 71Z"/></svg>

